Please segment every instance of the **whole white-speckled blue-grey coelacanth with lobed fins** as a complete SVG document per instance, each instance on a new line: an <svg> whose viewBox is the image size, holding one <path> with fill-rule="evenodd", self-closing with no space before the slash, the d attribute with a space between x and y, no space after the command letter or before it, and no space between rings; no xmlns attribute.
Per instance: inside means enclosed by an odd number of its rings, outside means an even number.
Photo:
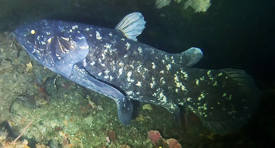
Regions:
<svg viewBox="0 0 275 148"><path fill-rule="evenodd" d="M245 71L194 68L203 57L199 48L171 54L138 42L145 23L134 12L114 29L45 19L22 24L14 33L43 66L114 100L123 125L131 124L131 100L162 106L175 122L185 108L215 133L247 124L260 96Z"/></svg>

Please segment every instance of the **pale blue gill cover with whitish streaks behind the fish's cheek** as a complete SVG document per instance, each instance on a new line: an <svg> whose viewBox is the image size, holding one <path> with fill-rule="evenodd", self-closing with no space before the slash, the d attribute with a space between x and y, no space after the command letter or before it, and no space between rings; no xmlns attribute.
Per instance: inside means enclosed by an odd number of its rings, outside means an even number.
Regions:
<svg viewBox="0 0 275 148"><path fill-rule="evenodd" d="M68 78L74 64L83 61L89 52L88 43L78 32L60 32L50 38L48 53L55 63L59 74ZM61 70L62 69L62 70Z"/></svg>

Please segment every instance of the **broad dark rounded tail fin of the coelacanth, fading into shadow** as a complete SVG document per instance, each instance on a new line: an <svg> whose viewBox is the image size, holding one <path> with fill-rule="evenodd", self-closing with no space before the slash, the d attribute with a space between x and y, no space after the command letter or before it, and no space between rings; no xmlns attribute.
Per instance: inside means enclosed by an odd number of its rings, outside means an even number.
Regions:
<svg viewBox="0 0 275 148"><path fill-rule="evenodd" d="M189 103L203 125L215 133L225 133L245 125L260 98L252 78L243 70L236 69L203 73L206 73L204 80L200 79L203 91L198 99Z"/></svg>

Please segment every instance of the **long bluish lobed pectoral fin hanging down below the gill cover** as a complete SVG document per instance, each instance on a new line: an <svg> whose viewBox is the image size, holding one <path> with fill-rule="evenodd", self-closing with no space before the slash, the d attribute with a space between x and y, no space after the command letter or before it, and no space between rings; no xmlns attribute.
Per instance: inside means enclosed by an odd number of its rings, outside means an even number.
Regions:
<svg viewBox="0 0 275 148"><path fill-rule="evenodd" d="M117 106L119 120L123 125L130 125L133 105L119 90L94 78L86 71L82 63L74 65L69 79L113 99Z"/></svg>

